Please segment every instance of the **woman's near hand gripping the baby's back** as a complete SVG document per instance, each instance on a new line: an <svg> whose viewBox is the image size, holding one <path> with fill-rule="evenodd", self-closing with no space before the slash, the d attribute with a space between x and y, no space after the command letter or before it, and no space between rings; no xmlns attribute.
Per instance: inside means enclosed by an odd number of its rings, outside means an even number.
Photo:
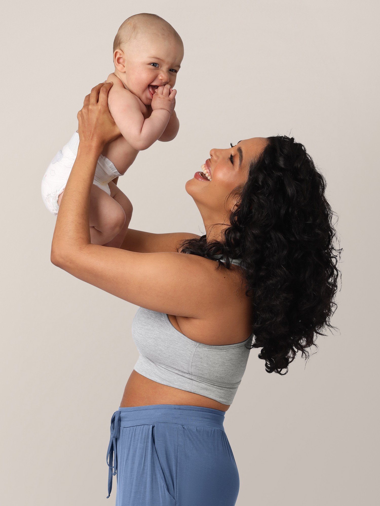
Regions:
<svg viewBox="0 0 380 506"><path fill-rule="evenodd" d="M100 83L91 90L77 117L80 146L99 154L104 146L119 137L120 130L108 109L108 92L112 82Z"/></svg>

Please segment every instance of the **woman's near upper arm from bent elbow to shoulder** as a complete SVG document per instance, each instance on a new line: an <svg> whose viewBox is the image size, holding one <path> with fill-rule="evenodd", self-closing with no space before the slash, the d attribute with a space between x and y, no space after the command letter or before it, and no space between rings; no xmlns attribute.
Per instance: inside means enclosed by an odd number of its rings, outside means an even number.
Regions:
<svg viewBox="0 0 380 506"><path fill-rule="evenodd" d="M137 306L191 318L229 305L215 262L175 252L138 253L88 244L63 251L58 267ZM225 308L224 308L225 306Z"/></svg>

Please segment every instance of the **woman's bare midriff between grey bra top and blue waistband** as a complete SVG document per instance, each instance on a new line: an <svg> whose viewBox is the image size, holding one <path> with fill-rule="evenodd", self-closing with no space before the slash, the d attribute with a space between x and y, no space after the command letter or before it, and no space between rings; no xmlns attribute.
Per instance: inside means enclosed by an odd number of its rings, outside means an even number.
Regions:
<svg viewBox="0 0 380 506"><path fill-rule="evenodd" d="M204 408L219 409L226 411L230 406L193 394L178 388L161 385L151 379L142 376L135 370L129 376L120 407L150 406L153 404L180 404L182 406L201 406Z"/></svg>

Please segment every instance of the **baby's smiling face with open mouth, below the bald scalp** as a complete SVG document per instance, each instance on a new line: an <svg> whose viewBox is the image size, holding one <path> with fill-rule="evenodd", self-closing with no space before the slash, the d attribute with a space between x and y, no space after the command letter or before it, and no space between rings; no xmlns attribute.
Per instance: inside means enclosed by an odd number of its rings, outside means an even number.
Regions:
<svg viewBox="0 0 380 506"><path fill-rule="evenodd" d="M125 49L123 75L128 90L150 105L155 89L175 85L183 58L183 47L174 37L141 35Z"/></svg>

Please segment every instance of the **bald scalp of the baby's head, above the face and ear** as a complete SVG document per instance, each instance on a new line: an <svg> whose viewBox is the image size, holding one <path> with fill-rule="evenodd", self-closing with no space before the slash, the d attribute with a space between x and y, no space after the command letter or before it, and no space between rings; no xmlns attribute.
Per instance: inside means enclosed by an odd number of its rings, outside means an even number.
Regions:
<svg viewBox="0 0 380 506"><path fill-rule="evenodd" d="M113 52L121 49L133 41L138 35L156 35L173 37L183 47L182 39L165 19L156 14L135 14L126 19L118 30L113 41Z"/></svg>

